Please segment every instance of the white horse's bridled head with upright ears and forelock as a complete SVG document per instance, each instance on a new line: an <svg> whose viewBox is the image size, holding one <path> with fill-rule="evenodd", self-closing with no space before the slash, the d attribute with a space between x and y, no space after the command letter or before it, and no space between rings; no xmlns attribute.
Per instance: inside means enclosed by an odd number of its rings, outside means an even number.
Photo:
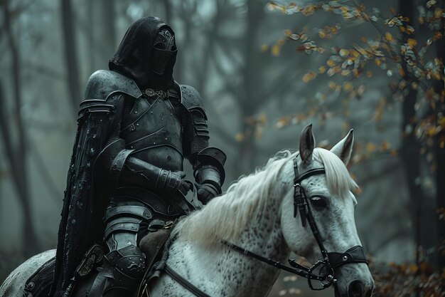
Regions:
<svg viewBox="0 0 445 297"><path fill-rule="evenodd" d="M313 264L323 260L316 271L326 274L329 273L326 270L332 269L336 296L368 297L374 281L364 263L354 220L357 200L351 192L358 186L346 168L353 141L353 130L350 130L331 150L325 150L314 148L311 125L301 132L299 154L293 162L288 162L282 173L281 179L286 180L288 187L294 183L296 188L282 200L281 224L291 251ZM307 205L298 205L305 202Z"/></svg>

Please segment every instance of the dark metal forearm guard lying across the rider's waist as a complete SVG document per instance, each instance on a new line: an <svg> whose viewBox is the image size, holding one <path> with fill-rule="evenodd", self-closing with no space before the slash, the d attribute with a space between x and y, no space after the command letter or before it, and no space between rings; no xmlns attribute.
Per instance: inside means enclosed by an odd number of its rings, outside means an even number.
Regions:
<svg viewBox="0 0 445 297"><path fill-rule="evenodd" d="M179 187L180 179L173 177L173 172L132 157L132 152L125 149L121 138L113 140L97 157L95 173L107 177L114 187L120 182L155 192L172 192Z"/></svg>

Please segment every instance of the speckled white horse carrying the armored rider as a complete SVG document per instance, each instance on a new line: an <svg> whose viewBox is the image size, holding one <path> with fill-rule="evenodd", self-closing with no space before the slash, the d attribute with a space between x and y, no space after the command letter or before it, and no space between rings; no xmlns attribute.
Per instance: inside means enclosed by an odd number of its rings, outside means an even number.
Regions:
<svg viewBox="0 0 445 297"><path fill-rule="evenodd" d="M291 251L315 263L322 254L309 226L294 217L294 159L299 172L323 167L326 174L301 181L309 209L327 251L344 251L360 245L355 229L357 201L345 164L353 147L353 131L331 151L314 149L311 126L301 134L300 151L282 151L254 174L232 184L223 196L182 219L173 229L175 240L166 264L200 291L213 297L267 296L279 269L246 256L222 241L276 261ZM46 251L21 264L0 287L0 297L22 296L26 279L55 255ZM335 269L336 296L369 297L374 288L365 263ZM150 296L193 297L171 276L163 273L150 288Z"/></svg>

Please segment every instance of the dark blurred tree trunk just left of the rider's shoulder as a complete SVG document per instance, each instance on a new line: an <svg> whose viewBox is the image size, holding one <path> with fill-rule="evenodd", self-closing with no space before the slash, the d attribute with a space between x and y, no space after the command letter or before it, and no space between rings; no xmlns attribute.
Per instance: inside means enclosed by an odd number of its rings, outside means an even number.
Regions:
<svg viewBox="0 0 445 297"><path fill-rule="evenodd" d="M75 38L73 11L70 0L61 0L61 16L63 28L63 41L65 43L65 66L68 77L68 91L70 103L75 113L79 109L79 67L77 63L77 42Z"/></svg>

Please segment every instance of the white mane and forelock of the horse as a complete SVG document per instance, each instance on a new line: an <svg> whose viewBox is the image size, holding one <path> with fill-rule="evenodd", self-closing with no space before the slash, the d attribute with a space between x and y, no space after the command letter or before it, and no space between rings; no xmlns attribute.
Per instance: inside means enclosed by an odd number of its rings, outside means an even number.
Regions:
<svg viewBox="0 0 445 297"><path fill-rule="evenodd" d="M289 150L278 152L264 167L232 183L221 197L181 219L172 235L203 244L237 239L247 224L262 219L271 199L283 197L283 187L277 185L277 178L284 165L297 154ZM333 152L317 147L313 150L313 157L324 165L328 189L332 194L343 197L350 189L358 187ZM274 215L279 215L279 212Z"/></svg>

